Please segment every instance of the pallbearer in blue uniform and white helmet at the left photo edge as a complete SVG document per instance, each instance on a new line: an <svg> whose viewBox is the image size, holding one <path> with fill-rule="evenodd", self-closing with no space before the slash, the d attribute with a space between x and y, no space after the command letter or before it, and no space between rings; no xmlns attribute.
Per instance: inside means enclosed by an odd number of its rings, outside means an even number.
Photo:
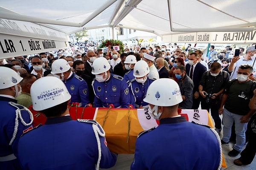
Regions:
<svg viewBox="0 0 256 170"><path fill-rule="evenodd" d="M17 143L20 136L33 128L33 115L15 97L20 95L20 81L17 72L0 67L0 170L20 170Z"/></svg>

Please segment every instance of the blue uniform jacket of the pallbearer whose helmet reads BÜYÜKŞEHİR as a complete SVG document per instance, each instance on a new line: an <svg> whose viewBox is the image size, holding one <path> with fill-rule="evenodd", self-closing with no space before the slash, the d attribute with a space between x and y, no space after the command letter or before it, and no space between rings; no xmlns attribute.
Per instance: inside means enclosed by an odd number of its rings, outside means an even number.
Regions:
<svg viewBox="0 0 256 170"><path fill-rule="evenodd" d="M116 156L99 136L99 167L110 168ZM98 145L91 123L70 116L47 119L45 125L24 134L18 144L18 159L23 170L95 170Z"/></svg>

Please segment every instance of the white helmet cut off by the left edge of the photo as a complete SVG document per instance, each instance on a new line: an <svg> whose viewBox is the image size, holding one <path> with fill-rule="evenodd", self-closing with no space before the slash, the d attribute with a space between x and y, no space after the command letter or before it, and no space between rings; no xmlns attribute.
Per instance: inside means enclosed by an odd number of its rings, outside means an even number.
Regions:
<svg viewBox="0 0 256 170"><path fill-rule="evenodd" d="M0 89L5 89L17 85L22 77L16 71L8 67L0 67Z"/></svg>

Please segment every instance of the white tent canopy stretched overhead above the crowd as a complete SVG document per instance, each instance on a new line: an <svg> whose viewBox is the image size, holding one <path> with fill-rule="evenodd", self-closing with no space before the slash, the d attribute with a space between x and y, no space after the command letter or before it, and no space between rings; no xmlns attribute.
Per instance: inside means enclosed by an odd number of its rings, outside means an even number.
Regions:
<svg viewBox="0 0 256 170"><path fill-rule="evenodd" d="M83 29L123 27L153 32L172 42L256 42L255 5L255 0L2 0L0 41L6 45L6 40L10 46L7 35L29 37L32 32L31 37L39 42L54 40L58 44ZM15 20L22 31L6 29L9 20ZM39 32L29 31L33 24ZM40 29L47 30L47 36L38 36ZM29 52L23 50L21 55ZM8 53L12 52L5 56Z"/></svg>

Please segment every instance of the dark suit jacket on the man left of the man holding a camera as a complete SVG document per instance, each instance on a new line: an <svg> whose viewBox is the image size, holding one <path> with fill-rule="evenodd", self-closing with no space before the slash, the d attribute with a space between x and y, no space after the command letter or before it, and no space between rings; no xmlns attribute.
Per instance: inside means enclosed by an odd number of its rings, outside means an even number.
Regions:
<svg viewBox="0 0 256 170"><path fill-rule="evenodd" d="M191 65L186 64L186 74L189 77L189 72L190 72L190 67ZM203 75L203 73L207 71L207 68L204 67L204 65L202 65L200 62L197 63L197 65L194 68L193 71L193 83L194 83L194 88L193 88L193 94L198 91L198 86L199 86L199 82L201 80L201 77Z"/></svg>

